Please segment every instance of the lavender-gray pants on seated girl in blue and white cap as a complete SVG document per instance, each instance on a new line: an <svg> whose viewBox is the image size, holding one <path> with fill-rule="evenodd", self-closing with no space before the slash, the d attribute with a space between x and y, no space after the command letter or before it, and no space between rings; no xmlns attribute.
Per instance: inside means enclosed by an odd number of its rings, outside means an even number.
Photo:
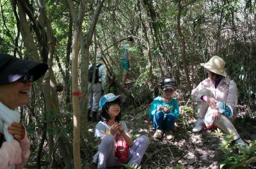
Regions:
<svg viewBox="0 0 256 169"><path fill-rule="evenodd" d="M140 136L133 141L132 147L129 147L129 160L131 165L140 165L141 159L147 150L149 140L147 136ZM106 166L120 166L118 158L115 158L115 138L113 135L105 136L99 145L99 163L98 168Z"/></svg>

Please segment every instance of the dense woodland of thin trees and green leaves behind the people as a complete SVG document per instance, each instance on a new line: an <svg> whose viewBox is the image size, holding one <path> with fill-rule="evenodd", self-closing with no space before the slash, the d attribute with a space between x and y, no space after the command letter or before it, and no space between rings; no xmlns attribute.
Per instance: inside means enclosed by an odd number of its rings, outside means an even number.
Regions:
<svg viewBox="0 0 256 169"><path fill-rule="evenodd" d="M184 112L179 125L191 130L195 119L191 89L206 77L200 63L213 55L226 61L228 75L238 87L240 112L255 122L255 4L253 0L1 0L0 53L49 65L45 76L33 85L31 103L20 108L22 122L33 133L28 166L91 168L95 125L86 119L86 98L88 65L97 53L104 56L108 70L105 93L124 94L124 118L140 119L134 122L135 131L148 129L150 135L150 123L143 126L143 122L148 121L147 108L159 94L164 77L177 80L175 96ZM131 86L124 90L120 48L129 36L134 38L133 65ZM83 97L72 96L74 92ZM158 143L154 146L157 151L164 148ZM180 149L173 147L175 143L169 143L165 149ZM157 168L155 153L148 153L145 168ZM156 165L148 160L152 156ZM159 168L188 165L188 161L172 160L161 161L165 165ZM216 161L221 163L221 159ZM192 162L189 165L196 167Z"/></svg>

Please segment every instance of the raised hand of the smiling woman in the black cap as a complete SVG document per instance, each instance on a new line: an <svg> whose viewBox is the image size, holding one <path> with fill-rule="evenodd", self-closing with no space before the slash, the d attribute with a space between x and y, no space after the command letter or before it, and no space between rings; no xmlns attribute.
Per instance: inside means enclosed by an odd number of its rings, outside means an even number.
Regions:
<svg viewBox="0 0 256 169"><path fill-rule="evenodd" d="M8 132L19 142L25 137L24 126L18 122L13 122L10 126L8 126Z"/></svg>

